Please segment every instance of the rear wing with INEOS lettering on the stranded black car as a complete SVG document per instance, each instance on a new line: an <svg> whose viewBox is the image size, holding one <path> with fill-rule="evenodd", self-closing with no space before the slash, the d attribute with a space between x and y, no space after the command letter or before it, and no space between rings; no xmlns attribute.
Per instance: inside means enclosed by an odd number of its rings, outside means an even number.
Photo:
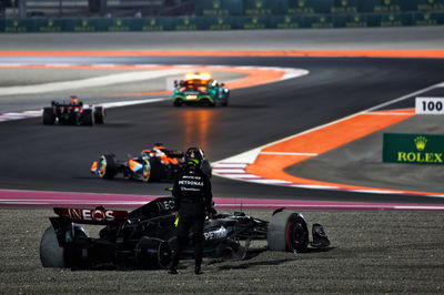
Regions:
<svg viewBox="0 0 444 295"><path fill-rule="evenodd" d="M127 211L97 208L54 207L54 213L79 224L113 224L128 218Z"/></svg>

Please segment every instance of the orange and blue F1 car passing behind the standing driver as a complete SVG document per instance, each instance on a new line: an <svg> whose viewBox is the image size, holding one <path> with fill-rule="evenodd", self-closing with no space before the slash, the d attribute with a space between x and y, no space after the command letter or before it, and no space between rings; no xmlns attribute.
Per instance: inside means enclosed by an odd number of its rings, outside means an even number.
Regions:
<svg viewBox="0 0 444 295"><path fill-rule="evenodd" d="M143 150L139 156L129 155L125 161L117 160L114 154L102 154L90 171L105 180L121 173L125 179L143 182L172 181L185 166L184 156L183 151L168 150L162 143L155 143L151 150ZM206 159L202 161L202 171L211 177L212 169Z"/></svg>

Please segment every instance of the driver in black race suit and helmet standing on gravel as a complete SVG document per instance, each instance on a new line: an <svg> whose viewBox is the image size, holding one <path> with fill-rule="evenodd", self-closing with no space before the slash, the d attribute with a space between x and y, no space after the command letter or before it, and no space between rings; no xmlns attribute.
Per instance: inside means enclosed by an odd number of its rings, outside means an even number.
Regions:
<svg viewBox="0 0 444 295"><path fill-rule="evenodd" d="M175 216L179 218L175 251L169 273L178 274L176 267L182 250L188 245L190 230L194 246L194 274L202 274L203 224L205 216L212 217L212 192L210 179L201 170L203 152L190 148L185 153L185 169L174 181L173 196Z"/></svg>

